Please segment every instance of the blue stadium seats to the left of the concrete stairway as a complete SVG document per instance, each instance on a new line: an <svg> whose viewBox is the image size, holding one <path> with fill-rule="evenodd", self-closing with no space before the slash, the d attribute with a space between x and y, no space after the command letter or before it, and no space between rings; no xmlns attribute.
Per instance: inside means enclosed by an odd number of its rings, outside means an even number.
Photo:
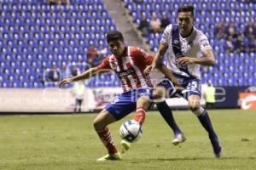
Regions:
<svg viewBox="0 0 256 170"><path fill-rule="evenodd" d="M116 29L102 0L74 0L61 8L35 0L0 3L0 88L56 87L42 82L44 69L53 62L61 67L86 61L90 44L107 47L105 34ZM115 86L114 81L108 86Z"/></svg>

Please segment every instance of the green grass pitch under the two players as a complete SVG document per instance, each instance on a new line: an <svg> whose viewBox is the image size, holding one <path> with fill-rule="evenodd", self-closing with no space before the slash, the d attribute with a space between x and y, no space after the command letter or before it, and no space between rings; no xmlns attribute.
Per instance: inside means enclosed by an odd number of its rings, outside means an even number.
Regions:
<svg viewBox="0 0 256 170"><path fill-rule="evenodd" d="M256 111L209 111L224 146L216 159L207 133L190 111L174 111L187 141L172 145L172 131L157 111L148 113L143 137L122 161L96 162L107 152L92 120L96 114L0 116L1 170L250 170L256 169ZM118 148L119 126L110 126Z"/></svg>

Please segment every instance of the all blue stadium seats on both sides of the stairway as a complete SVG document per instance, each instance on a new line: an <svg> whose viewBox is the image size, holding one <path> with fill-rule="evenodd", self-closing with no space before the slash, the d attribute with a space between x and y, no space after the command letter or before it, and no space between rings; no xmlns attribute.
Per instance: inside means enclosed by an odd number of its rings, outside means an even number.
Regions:
<svg viewBox="0 0 256 170"><path fill-rule="evenodd" d="M224 40L218 41L213 35L214 26L221 20L236 22L238 31L243 31L247 21L255 21L255 3L239 3L236 0L124 2L137 26L141 20L137 11L145 14L148 20L153 12L160 18L163 12L167 12L170 21L175 23L177 8L184 3L194 4L195 26L206 33L218 59L215 67L203 70L202 81L211 80L215 86L256 84L253 78L256 76L256 54L225 54ZM51 68L53 62L60 68L62 63L76 65L81 60L86 62L90 44L96 48L100 44L107 47L105 33L116 29L103 0L73 0L70 7L61 8L37 0L0 0L0 4L0 88L55 88L56 82L42 81L45 69ZM160 37L159 33L147 37L154 51L158 48ZM87 68L84 64L79 65L81 71ZM86 85L119 86L116 79L113 74L107 74L91 78Z"/></svg>

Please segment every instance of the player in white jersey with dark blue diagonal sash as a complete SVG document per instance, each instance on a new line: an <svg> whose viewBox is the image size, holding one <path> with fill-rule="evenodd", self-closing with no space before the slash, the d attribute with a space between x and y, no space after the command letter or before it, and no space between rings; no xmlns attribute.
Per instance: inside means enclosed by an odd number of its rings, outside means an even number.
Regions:
<svg viewBox="0 0 256 170"><path fill-rule="evenodd" d="M221 156L222 146L214 132L207 111L201 107L201 65L215 65L212 47L205 34L193 26L195 21L193 6L183 6L177 10L177 24L166 27L160 40L160 47L146 73L153 71L161 64L166 54L167 66L177 81L184 88L177 92L172 82L167 78L161 80L154 89L155 94L166 94L168 97L183 96L189 102L189 109L198 117L206 129L216 157ZM166 102L158 105L162 115L166 115ZM171 122L172 123L172 122ZM179 138L177 138L179 139ZM181 140L180 140L181 141Z"/></svg>

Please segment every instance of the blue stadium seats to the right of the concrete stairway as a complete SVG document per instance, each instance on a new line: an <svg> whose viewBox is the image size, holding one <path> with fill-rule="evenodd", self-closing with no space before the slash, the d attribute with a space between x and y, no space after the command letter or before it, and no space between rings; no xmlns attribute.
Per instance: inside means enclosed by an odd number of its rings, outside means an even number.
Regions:
<svg viewBox="0 0 256 170"><path fill-rule="evenodd" d="M204 31L214 48L217 65L208 71L202 70L202 82L211 81L214 86L248 86L255 85L253 78L256 65L256 54L225 54L224 40L216 40L213 35L214 27L221 20L226 23L234 22L239 32L244 31L248 21L256 18L256 3L242 3L236 0L148 0L143 3L133 3L132 0L124 0L126 7L133 17L134 23L139 26L141 14L145 14L150 20L152 13L156 13L161 19L161 14L167 12L171 23L176 23L176 10L183 4L193 4L195 7L195 26ZM140 11L141 14L137 14ZM205 24L207 23L207 24ZM154 52L157 51L160 35L150 33L147 41ZM252 65L253 64L253 65ZM254 70L253 70L254 69ZM227 72L230 73L227 76ZM245 76L243 73L247 73Z"/></svg>

